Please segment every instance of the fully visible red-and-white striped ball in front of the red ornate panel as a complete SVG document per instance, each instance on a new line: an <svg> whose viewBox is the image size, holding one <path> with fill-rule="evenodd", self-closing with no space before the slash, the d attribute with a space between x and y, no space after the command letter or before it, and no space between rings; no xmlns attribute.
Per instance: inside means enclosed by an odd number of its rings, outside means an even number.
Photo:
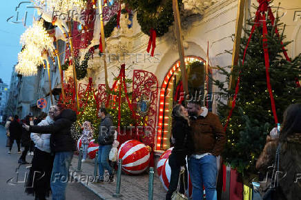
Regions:
<svg viewBox="0 0 301 200"><path fill-rule="evenodd" d="M132 139L120 146L117 159L122 159L122 170L127 174L140 174L148 168L150 153L144 143Z"/></svg>

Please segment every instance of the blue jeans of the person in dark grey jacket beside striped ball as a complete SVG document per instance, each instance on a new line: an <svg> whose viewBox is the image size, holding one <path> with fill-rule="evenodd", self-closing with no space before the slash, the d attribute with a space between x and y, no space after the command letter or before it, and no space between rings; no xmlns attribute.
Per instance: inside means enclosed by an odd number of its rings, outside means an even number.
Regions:
<svg viewBox="0 0 301 200"><path fill-rule="evenodd" d="M112 168L110 168L110 164L108 163L108 154L110 153L110 149L112 145L99 145L98 148L98 171L99 177L104 178L104 168L108 170L110 175L113 174Z"/></svg>

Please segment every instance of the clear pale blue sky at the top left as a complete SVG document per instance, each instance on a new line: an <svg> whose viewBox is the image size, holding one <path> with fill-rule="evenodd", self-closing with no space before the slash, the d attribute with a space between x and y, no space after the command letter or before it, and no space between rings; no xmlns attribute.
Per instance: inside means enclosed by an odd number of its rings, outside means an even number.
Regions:
<svg viewBox="0 0 301 200"><path fill-rule="evenodd" d="M2 0L3 1L3 0ZM24 3L22 3L24 2ZM28 1L9 0L1 3L0 12L0 78L10 85L12 67L18 61L18 53L21 51L20 37L28 26L32 24L34 8L26 8L32 5ZM21 5L19 6L19 3ZM17 20L17 10L19 17ZM27 17L26 16L27 12ZM9 19L12 17L11 19ZM9 20L8 20L9 19ZM26 20L23 20L26 19ZM8 21L7 21L8 20ZM25 21L26 26L24 26Z"/></svg>

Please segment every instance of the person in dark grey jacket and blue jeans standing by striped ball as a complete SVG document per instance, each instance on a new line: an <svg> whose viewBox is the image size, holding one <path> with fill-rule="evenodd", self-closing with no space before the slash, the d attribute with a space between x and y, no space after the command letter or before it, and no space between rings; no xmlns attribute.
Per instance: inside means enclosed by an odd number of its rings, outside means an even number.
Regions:
<svg viewBox="0 0 301 200"><path fill-rule="evenodd" d="M100 108L98 116L101 117L101 122L98 132L98 169L99 177L97 183L104 183L104 169L108 170L109 183L114 182L113 170L108 163L108 155L114 142L115 127L110 114L107 113L106 108Z"/></svg>

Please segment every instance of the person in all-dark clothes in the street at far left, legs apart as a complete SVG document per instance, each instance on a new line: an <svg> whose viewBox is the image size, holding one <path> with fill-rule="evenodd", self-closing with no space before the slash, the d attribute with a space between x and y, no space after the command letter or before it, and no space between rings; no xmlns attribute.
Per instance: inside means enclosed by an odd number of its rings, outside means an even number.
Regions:
<svg viewBox="0 0 301 200"><path fill-rule="evenodd" d="M12 151L12 144L15 140L18 147L18 154L21 154L20 141L22 135L22 126L21 123L19 123L18 115L14 115L14 120L10 123L10 127L8 129L10 130L10 150L8 153L10 154Z"/></svg>

